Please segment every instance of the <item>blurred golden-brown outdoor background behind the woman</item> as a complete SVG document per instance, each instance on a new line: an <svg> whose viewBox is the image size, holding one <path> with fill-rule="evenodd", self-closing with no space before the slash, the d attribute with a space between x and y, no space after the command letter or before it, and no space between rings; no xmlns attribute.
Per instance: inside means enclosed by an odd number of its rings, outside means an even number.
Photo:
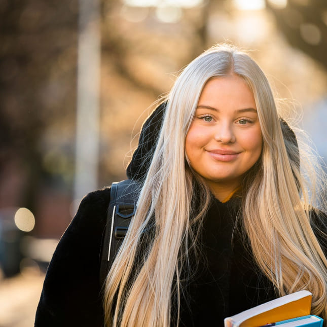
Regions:
<svg viewBox="0 0 327 327"><path fill-rule="evenodd" d="M327 155L325 0L0 1L0 326L32 326L88 192L125 178L143 120L219 42L253 49Z"/></svg>

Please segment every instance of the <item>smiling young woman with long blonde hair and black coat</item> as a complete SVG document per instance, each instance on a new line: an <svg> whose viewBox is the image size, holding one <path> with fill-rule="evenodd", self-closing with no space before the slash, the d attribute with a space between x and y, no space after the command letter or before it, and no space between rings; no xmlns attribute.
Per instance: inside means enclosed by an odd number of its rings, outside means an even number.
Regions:
<svg viewBox="0 0 327 327"><path fill-rule="evenodd" d="M105 285L109 188L61 238L35 326L222 326L301 289L326 319L326 215L299 153L256 62L227 45L204 52L142 127L127 169L137 210Z"/></svg>

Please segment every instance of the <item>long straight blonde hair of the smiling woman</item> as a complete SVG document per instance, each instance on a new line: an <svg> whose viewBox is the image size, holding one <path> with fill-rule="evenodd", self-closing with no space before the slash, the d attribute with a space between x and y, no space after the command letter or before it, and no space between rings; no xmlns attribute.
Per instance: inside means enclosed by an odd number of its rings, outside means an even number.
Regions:
<svg viewBox="0 0 327 327"><path fill-rule="evenodd" d="M168 96L136 214L106 279L108 326L169 326L173 300L178 324L181 267L196 244L192 227L201 222L210 202L208 188L187 163L185 138L206 82L231 73L253 92L263 135L256 173L250 169L243 182L241 219L253 256L280 295L308 289L313 293L312 312L327 318L327 261L310 226L297 149L283 137L262 70L246 53L220 45L194 59ZM197 206L195 180L201 195ZM151 232L142 233L146 228Z"/></svg>

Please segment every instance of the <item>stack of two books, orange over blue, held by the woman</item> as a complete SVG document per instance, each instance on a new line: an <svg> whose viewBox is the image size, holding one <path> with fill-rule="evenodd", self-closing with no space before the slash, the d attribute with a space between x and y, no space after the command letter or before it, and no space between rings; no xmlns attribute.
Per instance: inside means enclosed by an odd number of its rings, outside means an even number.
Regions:
<svg viewBox="0 0 327 327"><path fill-rule="evenodd" d="M225 318L225 327L322 327L323 319L310 314L311 301L312 294L301 290Z"/></svg>

